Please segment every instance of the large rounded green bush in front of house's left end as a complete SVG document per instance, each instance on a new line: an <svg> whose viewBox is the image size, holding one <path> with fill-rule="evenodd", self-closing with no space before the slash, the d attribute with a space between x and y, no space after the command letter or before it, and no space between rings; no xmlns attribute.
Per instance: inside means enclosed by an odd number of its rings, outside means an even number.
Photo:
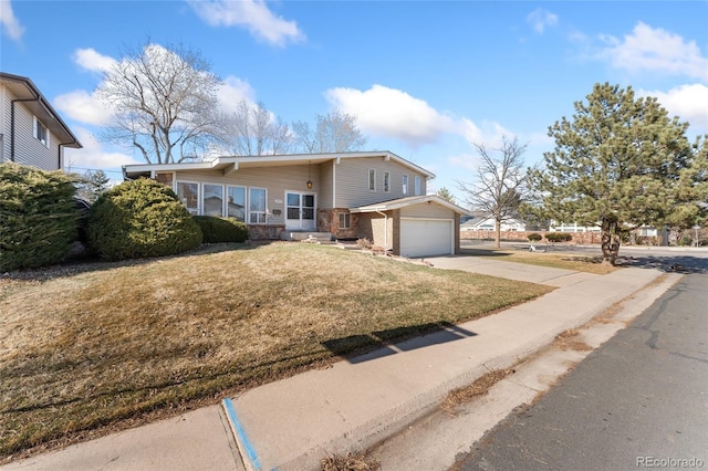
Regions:
<svg viewBox="0 0 708 471"><path fill-rule="evenodd" d="M105 260L173 255L197 248L202 240L177 195L146 178L103 193L88 212L87 234Z"/></svg>

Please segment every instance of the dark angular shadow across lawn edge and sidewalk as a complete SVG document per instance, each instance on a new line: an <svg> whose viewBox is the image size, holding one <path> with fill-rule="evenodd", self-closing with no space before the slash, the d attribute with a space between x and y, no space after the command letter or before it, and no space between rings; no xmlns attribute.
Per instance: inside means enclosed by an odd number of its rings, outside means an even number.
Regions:
<svg viewBox="0 0 708 471"><path fill-rule="evenodd" d="M437 322L333 338L322 345L348 363L358 364L476 335L449 322Z"/></svg>

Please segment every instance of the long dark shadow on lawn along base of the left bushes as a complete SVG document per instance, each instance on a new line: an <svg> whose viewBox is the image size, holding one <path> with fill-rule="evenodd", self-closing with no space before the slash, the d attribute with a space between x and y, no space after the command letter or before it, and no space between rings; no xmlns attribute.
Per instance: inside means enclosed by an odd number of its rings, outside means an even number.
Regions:
<svg viewBox="0 0 708 471"><path fill-rule="evenodd" d="M0 273L0 280L20 280L20 281L49 281L59 278L74 276L81 273L101 272L123 266L137 266L153 263L159 260L188 259L211 253L230 252L235 250L250 250L258 245L247 243L204 243L197 249L176 255L154 257L149 259L128 259L121 261L102 260L97 255L77 257L66 260L63 263L51 266L41 266L37 269L15 270L8 273Z"/></svg>

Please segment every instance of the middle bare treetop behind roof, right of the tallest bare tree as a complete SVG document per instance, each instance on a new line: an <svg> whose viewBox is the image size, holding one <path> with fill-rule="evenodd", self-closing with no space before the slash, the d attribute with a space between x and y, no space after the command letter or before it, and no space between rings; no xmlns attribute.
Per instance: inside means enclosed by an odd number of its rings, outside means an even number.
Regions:
<svg viewBox="0 0 708 471"><path fill-rule="evenodd" d="M225 118L222 137L229 151L239 156L287 154L293 136L289 126L266 108L262 102L241 100L236 112Z"/></svg>

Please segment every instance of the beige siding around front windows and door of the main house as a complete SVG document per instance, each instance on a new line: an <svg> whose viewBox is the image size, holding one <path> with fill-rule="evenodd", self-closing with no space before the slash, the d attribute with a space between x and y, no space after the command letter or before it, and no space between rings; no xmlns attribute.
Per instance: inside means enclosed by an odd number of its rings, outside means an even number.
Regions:
<svg viewBox="0 0 708 471"><path fill-rule="evenodd" d="M268 158L268 157L263 157ZM315 166L309 169L304 166L282 166L282 167L261 167L246 168L236 170L230 175L223 176L221 171L215 170L189 170L177 171L173 182L176 189L177 181L189 181L198 184L230 185L247 188L264 188L268 190L267 209L272 212L274 209L281 211L280 216L270 214L268 224L285 223L285 191L299 191L303 193L315 193L315 206L320 205L320 176L315 171ZM315 175L316 174L316 175ZM313 182L312 189L306 188L308 178ZM199 188L199 200L201 205L202 188ZM201 208L200 208L201 212Z"/></svg>

